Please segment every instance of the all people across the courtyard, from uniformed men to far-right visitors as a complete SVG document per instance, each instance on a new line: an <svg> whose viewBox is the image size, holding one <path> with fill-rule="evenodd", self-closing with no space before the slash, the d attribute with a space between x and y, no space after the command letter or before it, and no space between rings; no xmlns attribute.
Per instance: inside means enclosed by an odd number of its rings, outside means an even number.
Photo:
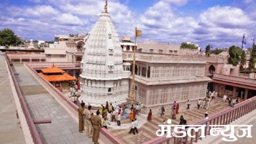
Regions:
<svg viewBox="0 0 256 144"><path fill-rule="evenodd" d="M74 89L70 89L73 93ZM75 94L75 93L74 93ZM217 92L209 92L204 99L198 99L196 103L197 109L205 109L208 110L214 98L217 96ZM228 100L228 104L230 106L234 106L234 104L239 103L240 99L234 99L232 96L223 96L223 102L225 103ZM186 110L190 109L190 100L186 101ZM179 103L176 101L171 105L171 118L176 119L176 115L179 113ZM78 109L79 113L79 132L83 132L85 130L86 125L86 134L88 137L92 137L95 143L98 143L98 134L100 128L108 129L108 125L111 122L117 122L117 126L121 126L121 118L131 120L131 126L129 127L129 134L139 134L137 126L138 120L137 116L140 115L143 109L143 103L137 102L135 105L131 105L131 107L127 107L127 105L117 105L116 101L114 103L108 103L106 101L106 105L101 105L100 108L96 111L96 115L93 115L91 111L91 105L85 109L85 103L81 102L81 105ZM160 107L160 117L165 115L165 106L161 105ZM140 112L140 113L139 113ZM208 113L205 112L205 120L208 120ZM148 112L147 120L152 120L152 109ZM165 120L163 120L163 124L165 124ZM187 125L187 120L184 119L184 116L181 115L179 118L179 125Z"/></svg>

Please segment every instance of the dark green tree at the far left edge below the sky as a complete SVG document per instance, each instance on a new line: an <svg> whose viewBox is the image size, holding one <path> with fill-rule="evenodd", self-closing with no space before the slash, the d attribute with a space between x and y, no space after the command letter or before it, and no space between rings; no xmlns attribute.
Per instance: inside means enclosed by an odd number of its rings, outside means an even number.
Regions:
<svg viewBox="0 0 256 144"><path fill-rule="evenodd" d="M3 29L0 31L0 45L19 45L22 43L21 39L17 37L11 29Z"/></svg>

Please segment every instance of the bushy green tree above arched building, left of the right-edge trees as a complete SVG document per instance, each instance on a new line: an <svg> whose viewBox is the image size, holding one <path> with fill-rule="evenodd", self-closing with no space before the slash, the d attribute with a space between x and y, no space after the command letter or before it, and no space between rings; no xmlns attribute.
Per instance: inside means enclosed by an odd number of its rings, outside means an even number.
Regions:
<svg viewBox="0 0 256 144"><path fill-rule="evenodd" d="M240 62L241 48L238 46L230 46L228 50L228 63L236 66Z"/></svg>

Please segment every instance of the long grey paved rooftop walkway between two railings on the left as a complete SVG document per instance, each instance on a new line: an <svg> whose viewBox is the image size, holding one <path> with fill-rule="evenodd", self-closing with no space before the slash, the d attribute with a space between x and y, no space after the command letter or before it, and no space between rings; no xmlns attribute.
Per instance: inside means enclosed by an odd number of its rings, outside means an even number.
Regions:
<svg viewBox="0 0 256 144"><path fill-rule="evenodd" d="M16 80L35 120L51 119L50 124L36 124L43 143L92 143L78 131L78 122L37 82L23 65L14 65Z"/></svg>

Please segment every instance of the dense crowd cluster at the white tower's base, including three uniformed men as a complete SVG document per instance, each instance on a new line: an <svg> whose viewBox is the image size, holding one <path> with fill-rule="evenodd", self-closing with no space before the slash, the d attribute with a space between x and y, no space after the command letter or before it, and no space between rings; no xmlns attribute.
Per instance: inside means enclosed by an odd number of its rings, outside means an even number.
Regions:
<svg viewBox="0 0 256 144"><path fill-rule="evenodd" d="M83 133L85 130L87 137L92 137L93 142L98 143L100 128L108 129L108 125L111 122L117 122L117 126L121 126L121 118L130 118L129 134L139 134L136 116L139 115L142 107L143 103L139 102L135 106L131 105L130 109L128 109L126 105L119 107L116 101L113 104L106 101L106 105L101 105L96 111L96 115L94 115L91 105L88 105L87 109L85 109L85 103L81 101L78 109L79 132Z"/></svg>

